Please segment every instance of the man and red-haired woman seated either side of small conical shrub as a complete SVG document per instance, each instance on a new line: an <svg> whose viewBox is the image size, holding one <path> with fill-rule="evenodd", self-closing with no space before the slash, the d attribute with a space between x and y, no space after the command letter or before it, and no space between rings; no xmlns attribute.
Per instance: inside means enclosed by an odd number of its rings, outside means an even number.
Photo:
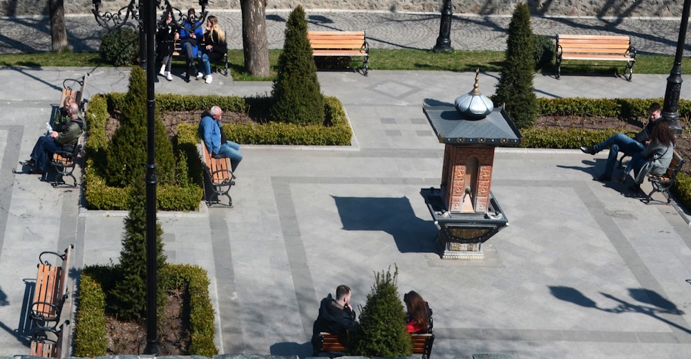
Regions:
<svg viewBox="0 0 691 359"><path fill-rule="evenodd" d="M336 288L336 299L329 293L319 304L319 315L312 326L312 345L316 346L319 333L339 335L357 330L355 311L350 305L352 291L341 284ZM411 334L432 333L432 309L422 296L410 291L403 296L406 303L406 330Z"/></svg>

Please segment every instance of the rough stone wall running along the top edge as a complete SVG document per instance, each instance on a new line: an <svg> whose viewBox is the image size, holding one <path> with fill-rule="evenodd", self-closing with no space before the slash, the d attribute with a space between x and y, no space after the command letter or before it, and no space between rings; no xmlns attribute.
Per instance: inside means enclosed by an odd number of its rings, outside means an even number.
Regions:
<svg viewBox="0 0 691 359"><path fill-rule="evenodd" d="M126 6L127 0L102 0L105 10ZM306 10L358 10L439 12L444 0L272 0L267 11L291 9L302 4ZM64 0L66 14L91 14L91 0ZM451 0L453 13L511 15L520 0ZM181 9L199 8L195 0L171 0ZM239 0L211 0L211 10L240 10ZM591 17L681 17L681 0L527 0L533 15ZM48 14L48 0L0 0L0 16Z"/></svg>

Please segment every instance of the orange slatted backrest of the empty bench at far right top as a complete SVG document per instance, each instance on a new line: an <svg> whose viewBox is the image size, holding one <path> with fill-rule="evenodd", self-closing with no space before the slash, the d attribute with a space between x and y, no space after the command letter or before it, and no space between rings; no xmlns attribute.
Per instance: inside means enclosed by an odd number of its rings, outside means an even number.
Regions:
<svg viewBox="0 0 691 359"><path fill-rule="evenodd" d="M562 53L614 53L629 52L628 36L557 35L557 50Z"/></svg>

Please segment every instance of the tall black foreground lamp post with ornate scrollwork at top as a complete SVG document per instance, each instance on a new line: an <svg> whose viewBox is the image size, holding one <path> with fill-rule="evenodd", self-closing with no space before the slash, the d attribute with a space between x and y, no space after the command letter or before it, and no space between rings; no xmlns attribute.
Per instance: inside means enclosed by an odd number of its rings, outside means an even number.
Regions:
<svg viewBox="0 0 691 359"><path fill-rule="evenodd" d="M92 0L93 15L99 26L111 30L113 28L120 28L122 26L138 26L140 30L140 64L146 70L146 347L143 354L151 354L158 356L160 349L158 349L156 333L156 323L158 318L156 315L156 164L155 164L155 35L156 35L156 6L160 6L164 12L170 12L173 15L173 21L180 27L186 30L193 31L192 28L187 28L184 24L189 22L187 15L183 15L182 11L174 8L165 0L163 6L160 1L144 1L139 0L138 6L135 7L135 0L130 0L127 6L120 8L116 13L106 11L100 12L101 0ZM207 17L206 6L208 0L199 0L199 5L202 7L201 16L196 24L204 24ZM176 14L177 12L177 14ZM177 16L176 16L177 15ZM129 22L130 17L136 22L132 24ZM146 66L149 64L149 66Z"/></svg>

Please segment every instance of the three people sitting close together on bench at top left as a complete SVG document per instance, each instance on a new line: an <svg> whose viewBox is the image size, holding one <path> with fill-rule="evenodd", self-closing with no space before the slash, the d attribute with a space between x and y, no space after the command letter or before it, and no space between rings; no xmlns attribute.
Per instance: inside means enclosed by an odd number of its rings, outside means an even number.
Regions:
<svg viewBox="0 0 691 359"><path fill-rule="evenodd" d="M205 30L202 30L202 23L197 21L194 9L187 10L187 20L179 27L174 23L170 11L163 13L157 33L157 62L161 64L159 75L168 81L173 80L171 62L175 43L178 41L186 62L185 82L189 82L190 77L195 77L196 80L203 78L207 84L211 84L213 78L209 61L223 59L228 53L225 33L218 24L218 18L213 15L207 17ZM199 68L194 64L195 59L198 61Z"/></svg>

